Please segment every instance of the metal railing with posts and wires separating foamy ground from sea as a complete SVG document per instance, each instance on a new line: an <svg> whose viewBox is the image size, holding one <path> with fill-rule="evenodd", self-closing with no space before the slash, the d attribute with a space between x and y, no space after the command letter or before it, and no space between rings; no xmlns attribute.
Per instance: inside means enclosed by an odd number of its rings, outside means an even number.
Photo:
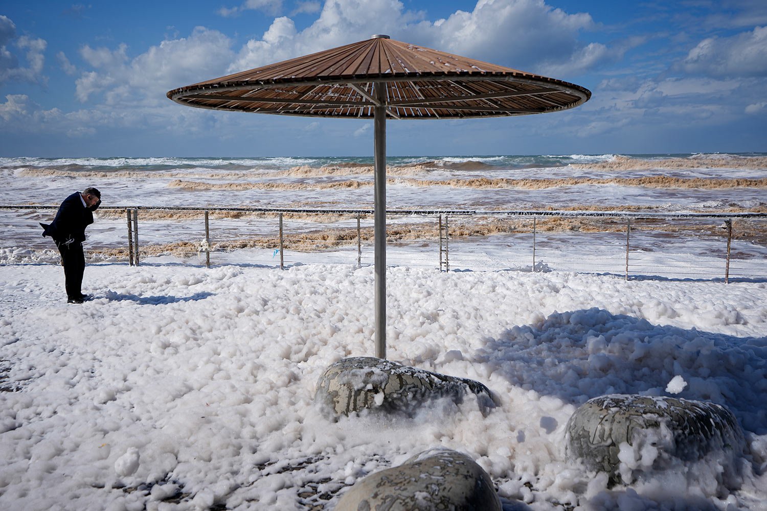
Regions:
<svg viewBox="0 0 767 511"><path fill-rule="evenodd" d="M0 264L58 263L38 225L56 208L0 205ZM112 206L96 216L86 247L94 262L280 268L373 262L369 209ZM441 271L767 279L765 213L392 209L387 244L388 264Z"/></svg>

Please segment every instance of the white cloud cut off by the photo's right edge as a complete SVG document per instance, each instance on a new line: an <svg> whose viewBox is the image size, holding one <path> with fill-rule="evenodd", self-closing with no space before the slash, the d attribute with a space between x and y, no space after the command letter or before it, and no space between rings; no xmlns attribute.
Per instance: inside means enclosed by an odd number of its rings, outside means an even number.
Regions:
<svg viewBox="0 0 767 511"><path fill-rule="evenodd" d="M692 74L767 75L767 27L756 27L729 38L706 38L675 67Z"/></svg>

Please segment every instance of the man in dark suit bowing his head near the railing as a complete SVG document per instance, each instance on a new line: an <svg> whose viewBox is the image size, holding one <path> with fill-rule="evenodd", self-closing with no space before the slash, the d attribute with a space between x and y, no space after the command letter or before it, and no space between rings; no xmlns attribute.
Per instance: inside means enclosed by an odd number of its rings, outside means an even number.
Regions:
<svg viewBox="0 0 767 511"><path fill-rule="evenodd" d="M41 224L43 236L52 237L61 254L67 303L83 303L88 298L81 293L85 271L83 241L85 228L94 223L93 212L100 204L101 192L96 188L85 188L64 199L50 225Z"/></svg>

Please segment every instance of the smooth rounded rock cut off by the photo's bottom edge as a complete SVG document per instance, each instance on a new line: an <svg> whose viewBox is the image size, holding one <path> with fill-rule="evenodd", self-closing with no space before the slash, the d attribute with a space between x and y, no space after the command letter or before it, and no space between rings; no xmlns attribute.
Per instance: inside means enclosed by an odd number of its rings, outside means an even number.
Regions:
<svg viewBox="0 0 767 511"><path fill-rule="evenodd" d="M335 507L375 509L501 511L501 503L489 475L474 460L456 450L430 449L357 481Z"/></svg>

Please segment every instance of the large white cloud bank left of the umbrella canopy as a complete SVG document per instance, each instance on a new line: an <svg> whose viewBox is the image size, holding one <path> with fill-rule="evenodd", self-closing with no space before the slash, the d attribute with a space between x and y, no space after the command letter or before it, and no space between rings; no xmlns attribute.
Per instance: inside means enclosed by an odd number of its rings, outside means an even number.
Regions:
<svg viewBox="0 0 767 511"><path fill-rule="evenodd" d="M86 108L41 110L26 96L9 96L0 103L0 129L65 136L115 129L222 133L239 117L180 107L167 99L166 92L225 74L235 57L231 45L218 31L196 28L187 38L163 41L136 57L124 44L84 46L80 55L85 64L78 71L75 95L87 102ZM63 54L58 58L60 64L68 62Z"/></svg>

